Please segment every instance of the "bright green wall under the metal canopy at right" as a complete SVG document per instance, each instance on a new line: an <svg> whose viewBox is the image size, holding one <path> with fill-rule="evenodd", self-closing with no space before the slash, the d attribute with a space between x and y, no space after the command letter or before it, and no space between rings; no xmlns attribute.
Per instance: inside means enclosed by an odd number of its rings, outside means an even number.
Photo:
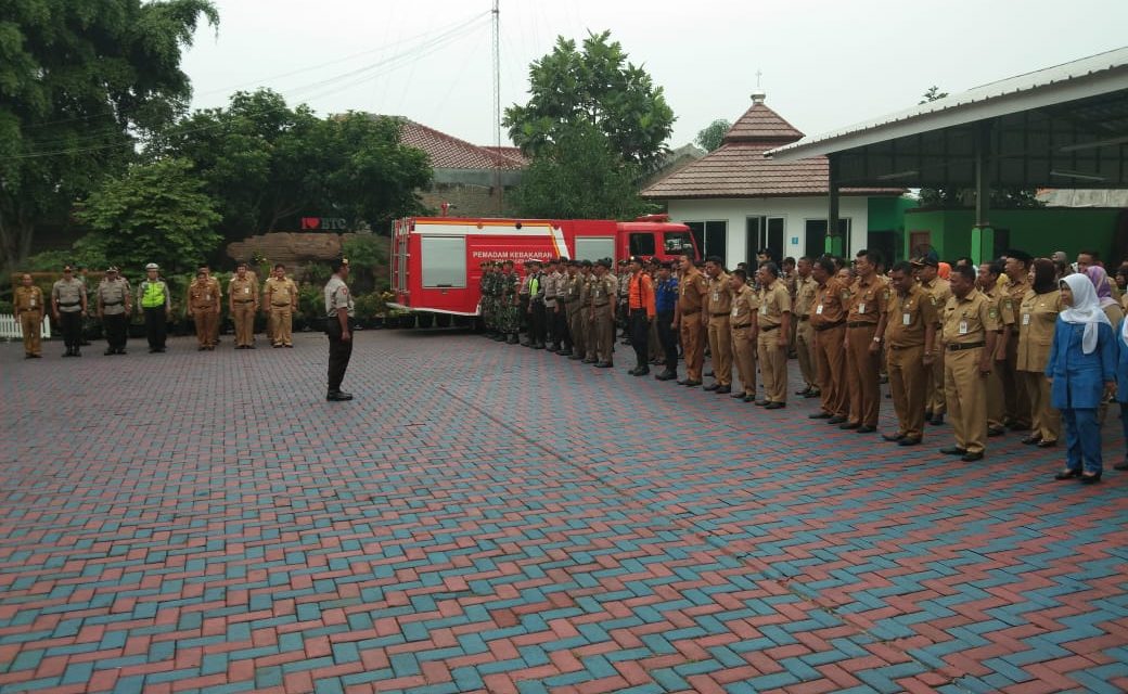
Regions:
<svg viewBox="0 0 1128 694"><path fill-rule="evenodd" d="M1010 246L1036 256L1065 251L1072 258L1082 248L1093 248L1107 261L1111 257L1120 209L1041 208L1033 210L994 210L990 223L1010 230ZM952 261L971 255L972 210L907 210L904 253L910 253L914 231L929 231L932 245L941 258Z"/></svg>

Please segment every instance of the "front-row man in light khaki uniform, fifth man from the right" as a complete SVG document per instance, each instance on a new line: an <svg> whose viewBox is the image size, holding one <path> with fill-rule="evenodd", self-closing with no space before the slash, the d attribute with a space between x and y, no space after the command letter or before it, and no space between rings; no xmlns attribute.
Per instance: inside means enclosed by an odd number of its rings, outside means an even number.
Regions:
<svg viewBox="0 0 1128 694"><path fill-rule="evenodd" d="M791 343L791 295L779 280L775 263L764 263L756 273L760 284L760 306L752 320L757 355L764 378L765 410L787 406L787 346Z"/></svg>

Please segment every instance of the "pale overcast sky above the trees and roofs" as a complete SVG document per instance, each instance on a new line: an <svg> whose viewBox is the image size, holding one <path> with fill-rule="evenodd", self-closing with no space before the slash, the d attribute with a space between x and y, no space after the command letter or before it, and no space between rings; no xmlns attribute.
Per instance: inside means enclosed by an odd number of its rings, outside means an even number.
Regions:
<svg viewBox="0 0 1128 694"><path fill-rule="evenodd" d="M214 0L183 67L194 107L271 87L319 114L407 116L494 141L491 0ZM650 72L677 121L671 147L750 105L817 134L1128 45L1126 0L501 0L502 107L525 103L529 63L556 36L610 29ZM509 143L504 131L503 143Z"/></svg>

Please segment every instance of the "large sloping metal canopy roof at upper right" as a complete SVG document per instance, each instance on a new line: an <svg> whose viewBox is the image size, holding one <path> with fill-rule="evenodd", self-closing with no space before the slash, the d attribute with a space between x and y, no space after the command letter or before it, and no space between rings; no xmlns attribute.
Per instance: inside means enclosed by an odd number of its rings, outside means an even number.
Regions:
<svg viewBox="0 0 1128 694"><path fill-rule="evenodd" d="M830 156L841 186L1128 187L1128 46L765 153Z"/></svg>

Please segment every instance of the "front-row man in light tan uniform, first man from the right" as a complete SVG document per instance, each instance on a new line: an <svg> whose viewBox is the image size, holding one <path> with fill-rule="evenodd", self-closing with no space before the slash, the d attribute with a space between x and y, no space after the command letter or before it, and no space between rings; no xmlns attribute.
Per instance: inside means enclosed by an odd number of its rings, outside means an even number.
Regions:
<svg viewBox="0 0 1128 694"><path fill-rule="evenodd" d="M952 298L944 307L944 395L955 430L955 446L940 453L981 460L987 446L987 389L992 372L998 309L976 290L976 270L952 269Z"/></svg>

